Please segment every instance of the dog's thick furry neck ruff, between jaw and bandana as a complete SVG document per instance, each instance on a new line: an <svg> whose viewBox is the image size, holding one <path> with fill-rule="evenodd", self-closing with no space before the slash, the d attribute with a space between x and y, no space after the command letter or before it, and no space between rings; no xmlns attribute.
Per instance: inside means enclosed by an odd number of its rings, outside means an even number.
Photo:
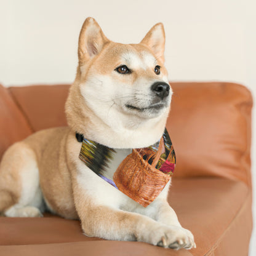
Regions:
<svg viewBox="0 0 256 256"><path fill-rule="evenodd" d="M77 99L75 105L71 98ZM86 105L79 87L74 85L70 88L66 102L66 117L71 129L110 148L143 148L153 145L164 132L167 114L168 110L161 117L152 119L137 116L116 118L111 114L108 118L102 118Z"/></svg>

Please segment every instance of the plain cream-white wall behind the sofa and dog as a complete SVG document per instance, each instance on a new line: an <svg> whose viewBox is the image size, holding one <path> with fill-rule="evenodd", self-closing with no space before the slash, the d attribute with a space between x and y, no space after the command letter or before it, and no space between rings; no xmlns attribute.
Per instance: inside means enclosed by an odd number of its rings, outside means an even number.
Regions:
<svg viewBox="0 0 256 256"><path fill-rule="evenodd" d="M119 42L139 42L163 22L172 81L240 82L255 97L255 10L250 0L1 1L0 82L72 82L79 30L92 16ZM254 114L254 130L255 119ZM254 161L255 138L253 150ZM256 255L255 234L250 255Z"/></svg>

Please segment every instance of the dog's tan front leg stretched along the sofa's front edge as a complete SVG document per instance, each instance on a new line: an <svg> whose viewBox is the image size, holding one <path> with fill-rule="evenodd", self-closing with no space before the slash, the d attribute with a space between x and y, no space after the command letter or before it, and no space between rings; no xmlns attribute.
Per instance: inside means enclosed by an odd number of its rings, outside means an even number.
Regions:
<svg viewBox="0 0 256 256"><path fill-rule="evenodd" d="M84 190L78 183L74 188L76 210L87 236L121 241L137 240L175 249L181 247L190 249L194 246L189 231L179 226L163 225L141 214L98 204L98 194L92 196L92 191Z"/></svg>

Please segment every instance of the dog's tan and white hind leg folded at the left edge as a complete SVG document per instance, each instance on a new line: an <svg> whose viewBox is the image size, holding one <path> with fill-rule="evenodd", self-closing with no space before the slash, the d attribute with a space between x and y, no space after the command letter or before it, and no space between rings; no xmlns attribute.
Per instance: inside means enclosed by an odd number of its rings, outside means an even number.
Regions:
<svg viewBox="0 0 256 256"><path fill-rule="evenodd" d="M15 143L0 165L0 212L7 217L39 217L41 206L36 155L26 143Z"/></svg>

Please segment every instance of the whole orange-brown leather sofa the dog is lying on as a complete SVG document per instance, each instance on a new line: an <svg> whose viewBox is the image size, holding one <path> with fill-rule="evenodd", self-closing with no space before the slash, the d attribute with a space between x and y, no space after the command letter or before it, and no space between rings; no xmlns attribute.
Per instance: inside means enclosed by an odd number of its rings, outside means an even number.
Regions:
<svg viewBox="0 0 256 256"><path fill-rule="evenodd" d="M76 220L0 217L0 255L247 255L252 231L250 112L246 87L171 83L167 121L177 155L169 203L197 244L172 250L143 242L87 238ZM68 85L0 86L0 159L12 143L65 126Z"/></svg>

